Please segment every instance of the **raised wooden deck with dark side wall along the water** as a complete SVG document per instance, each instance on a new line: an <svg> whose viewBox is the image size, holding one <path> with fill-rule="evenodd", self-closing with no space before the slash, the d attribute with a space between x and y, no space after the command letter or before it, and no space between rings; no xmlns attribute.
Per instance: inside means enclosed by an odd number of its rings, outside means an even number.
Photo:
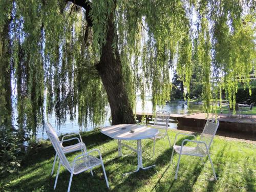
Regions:
<svg viewBox="0 0 256 192"><path fill-rule="evenodd" d="M146 124L153 124L152 113L137 113L138 122L142 121L144 115ZM209 114L208 118L215 118L216 114ZM169 123L177 123L178 130L202 132L207 116L205 113L195 113L191 115L170 114ZM244 115L239 118L238 115L231 117L220 114L217 115L220 121L217 135L234 137L239 139L248 139L256 141L256 115L252 118L250 115Z"/></svg>

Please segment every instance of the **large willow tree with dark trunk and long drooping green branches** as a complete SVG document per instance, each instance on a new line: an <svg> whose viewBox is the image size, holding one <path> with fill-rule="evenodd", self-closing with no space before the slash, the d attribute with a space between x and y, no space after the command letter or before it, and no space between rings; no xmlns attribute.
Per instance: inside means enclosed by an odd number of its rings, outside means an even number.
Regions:
<svg viewBox="0 0 256 192"><path fill-rule="evenodd" d="M174 65L188 93L201 67L208 112L212 86L234 103L237 79L249 87L255 69L252 0L1 0L0 24L1 118L16 98L21 135L35 136L45 113L100 124L108 106L113 124L135 123L137 94L154 110L169 100Z"/></svg>

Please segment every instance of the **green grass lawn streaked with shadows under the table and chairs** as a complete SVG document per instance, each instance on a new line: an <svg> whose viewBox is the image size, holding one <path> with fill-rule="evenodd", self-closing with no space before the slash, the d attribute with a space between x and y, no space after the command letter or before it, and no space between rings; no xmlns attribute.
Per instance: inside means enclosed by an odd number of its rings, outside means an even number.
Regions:
<svg viewBox="0 0 256 192"><path fill-rule="evenodd" d="M168 134L174 141L176 131ZM181 137L182 139L191 137ZM199 138L199 136L197 136ZM101 151L111 191L256 191L256 148L255 142L242 142L216 136L210 150L218 181L214 181L209 160L205 164L198 157L182 156L178 179L175 170L178 155L174 155L170 164L172 149L167 138L156 141L156 154L152 158L153 141L142 140L143 164L156 164L155 168L140 170L129 176L123 173L136 169L137 156L117 157L117 140L101 134L98 130L82 134L83 142L88 150L98 148ZM69 143L71 144L71 143ZM129 142L136 147L136 141ZM123 147L123 154L132 153ZM49 142L42 142L30 150L18 174L9 175L0 181L2 191L53 191L55 173L50 176L54 160L54 149ZM72 160L78 154L68 155ZM70 173L63 167L60 169L55 191L67 191ZM1 188L2 185L2 188ZM101 167L94 168L94 177L90 172L73 177L71 191L108 191Z"/></svg>

